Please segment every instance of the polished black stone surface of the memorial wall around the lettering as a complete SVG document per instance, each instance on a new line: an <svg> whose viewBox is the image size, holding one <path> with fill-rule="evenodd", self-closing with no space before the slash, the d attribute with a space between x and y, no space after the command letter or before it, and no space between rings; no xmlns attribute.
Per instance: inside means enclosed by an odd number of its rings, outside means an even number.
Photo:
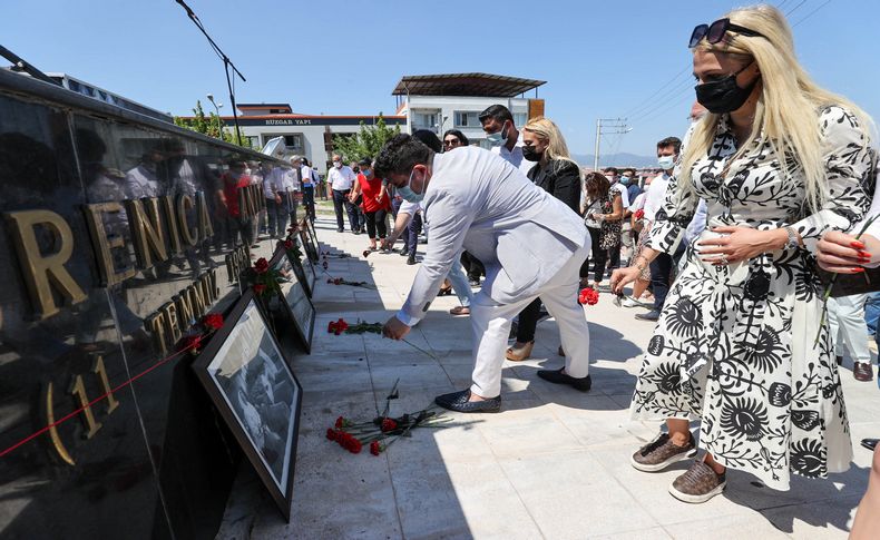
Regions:
<svg viewBox="0 0 880 540"><path fill-rule="evenodd" d="M0 222L0 538L213 538L241 452L193 356L162 351L145 323L213 267L209 311L237 300L224 259L252 223L232 217L221 194L231 178L256 180L260 157L21 79L0 73L0 213L60 215L74 243L63 267L87 298L69 305L53 293L60 311L39 318L14 232ZM82 205L199 192L214 235L149 268L137 267L126 213L105 213L107 234L124 239L114 267L135 274L101 285ZM195 210L184 219L194 225ZM36 233L42 256L59 248L51 230ZM114 389L90 420L70 415ZM53 430L12 449L52 418Z"/></svg>

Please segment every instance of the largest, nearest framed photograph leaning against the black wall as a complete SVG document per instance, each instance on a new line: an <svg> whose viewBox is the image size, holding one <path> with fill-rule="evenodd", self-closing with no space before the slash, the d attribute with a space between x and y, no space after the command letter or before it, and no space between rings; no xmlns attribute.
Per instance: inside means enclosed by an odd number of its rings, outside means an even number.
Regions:
<svg viewBox="0 0 880 540"><path fill-rule="evenodd" d="M303 391L251 291L193 369L290 521Z"/></svg>

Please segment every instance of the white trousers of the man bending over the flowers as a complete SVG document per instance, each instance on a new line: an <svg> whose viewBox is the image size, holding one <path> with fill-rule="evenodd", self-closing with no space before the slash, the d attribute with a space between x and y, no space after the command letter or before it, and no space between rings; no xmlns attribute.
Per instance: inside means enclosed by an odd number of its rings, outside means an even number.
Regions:
<svg viewBox="0 0 880 540"><path fill-rule="evenodd" d="M501 366L505 362L507 336L514 316L540 296L547 311L556 318L565 350L565 372L585 377L589 370L589 327L584 308L577 303L580 265L589 253L586 245L575 252L559 272L535 294L510 304L499 304L480 291L470 305L473 333L473 385L471 392L482 397L501 394ZM536 264L524 261L524 264Z"/></svg>

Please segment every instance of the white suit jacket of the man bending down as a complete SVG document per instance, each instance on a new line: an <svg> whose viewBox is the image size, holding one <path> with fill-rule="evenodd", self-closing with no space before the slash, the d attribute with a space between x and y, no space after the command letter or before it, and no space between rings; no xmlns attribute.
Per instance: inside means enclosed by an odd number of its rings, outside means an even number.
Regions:
<svg viewBox="0 0 880 540"><path fill-rule="evenodd" d="M424 316L462 246L486 267L483 292L508 304L534 295L588 242L580 216L481 148L434 155L422 208L431 237L397 315L410 326Z"/></svg>

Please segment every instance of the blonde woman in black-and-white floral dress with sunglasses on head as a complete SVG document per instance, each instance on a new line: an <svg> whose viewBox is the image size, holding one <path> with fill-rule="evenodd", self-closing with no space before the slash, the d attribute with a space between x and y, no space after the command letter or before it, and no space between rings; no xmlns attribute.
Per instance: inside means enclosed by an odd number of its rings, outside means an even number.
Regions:
<svg viewBox="0 0 880 540"><path fill-rule="evenodd" d="M722 492L727 468L778 490L792 472L849 468L814 254L822 234L862 218L874 154L870 119L812 82L775 8L701 24L690 47L710 114L685 138L647 247L612 284L622 291L657 253L673 253L706 200L708 227L666 298L630 408L668 428L633 455L643 471L696 455L688 420L702 420L706 452L669 492L704 502Z"/></svg>

